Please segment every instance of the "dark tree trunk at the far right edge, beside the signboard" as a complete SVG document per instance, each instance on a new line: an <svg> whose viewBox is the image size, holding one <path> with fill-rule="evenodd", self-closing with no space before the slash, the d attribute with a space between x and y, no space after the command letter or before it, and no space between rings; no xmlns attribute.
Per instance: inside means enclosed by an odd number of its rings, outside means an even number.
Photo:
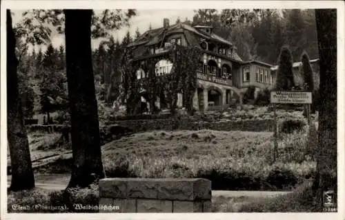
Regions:
<svg viewBox="0 0 345 220"><path fill-rule="evenodd" d="M337 193L337 10L315 10L319 42L319 144L314 189L322 210L323 193ZM335 194L336 195L336 194Z"/></svg>

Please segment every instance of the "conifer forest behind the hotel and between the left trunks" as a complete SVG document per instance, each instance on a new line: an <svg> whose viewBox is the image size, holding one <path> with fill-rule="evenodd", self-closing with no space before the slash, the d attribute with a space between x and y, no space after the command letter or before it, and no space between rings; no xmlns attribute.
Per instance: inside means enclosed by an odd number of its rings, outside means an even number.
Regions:
<svg viewBox="0 0 345 220"><path fill-rule="evenodd" d="M15 33L20 34L23 19ZM179 22L177 19L176 22ZM277 65L283 45L290 48L293 61L301 61L304 50L310 58L318 57L315 10L195 10L190 25L211 25L214 32L234 43L244 61L256 59ZM148 27L150 29L150 27ZM109 104L119 96L121 83L117 71L120 59L128 43L135 36L128 31L124 39L114 36L103 38L97 50L92 51L92 67L95 76L97 99ZM19 58L19 90L23 113L31 118L34 113L49 113L67 108L67 78L65 48L48 45L47 50L29 51L29 43L17 41Z"/></svg>

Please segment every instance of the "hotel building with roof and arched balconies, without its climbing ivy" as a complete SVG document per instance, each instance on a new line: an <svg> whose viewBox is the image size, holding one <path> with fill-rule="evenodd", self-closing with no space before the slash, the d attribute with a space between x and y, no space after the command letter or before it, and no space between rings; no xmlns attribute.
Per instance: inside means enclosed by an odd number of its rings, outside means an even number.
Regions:
<svg viewBox="0 0 345 220"><path fill-rule="evenodd" d="M187 23L169 25L164 19L163 27L148 30L137 41L128 45L135 48L133 58L145 60L162 57L155 65L156 76L170 74L173 63L164 59L164 54L173 45L197 47L201 54L197 69L197 89L193 106L199 111L224 108L234 102L242 103L242 94L248 87L255 86L256 92L273 86L274 68L260 61L243 61L237 54L237 47L213 32L210 26L190 26ZM138 69L137 79L147 77ZM181 94L177 105L181 107Z"/></svg>

